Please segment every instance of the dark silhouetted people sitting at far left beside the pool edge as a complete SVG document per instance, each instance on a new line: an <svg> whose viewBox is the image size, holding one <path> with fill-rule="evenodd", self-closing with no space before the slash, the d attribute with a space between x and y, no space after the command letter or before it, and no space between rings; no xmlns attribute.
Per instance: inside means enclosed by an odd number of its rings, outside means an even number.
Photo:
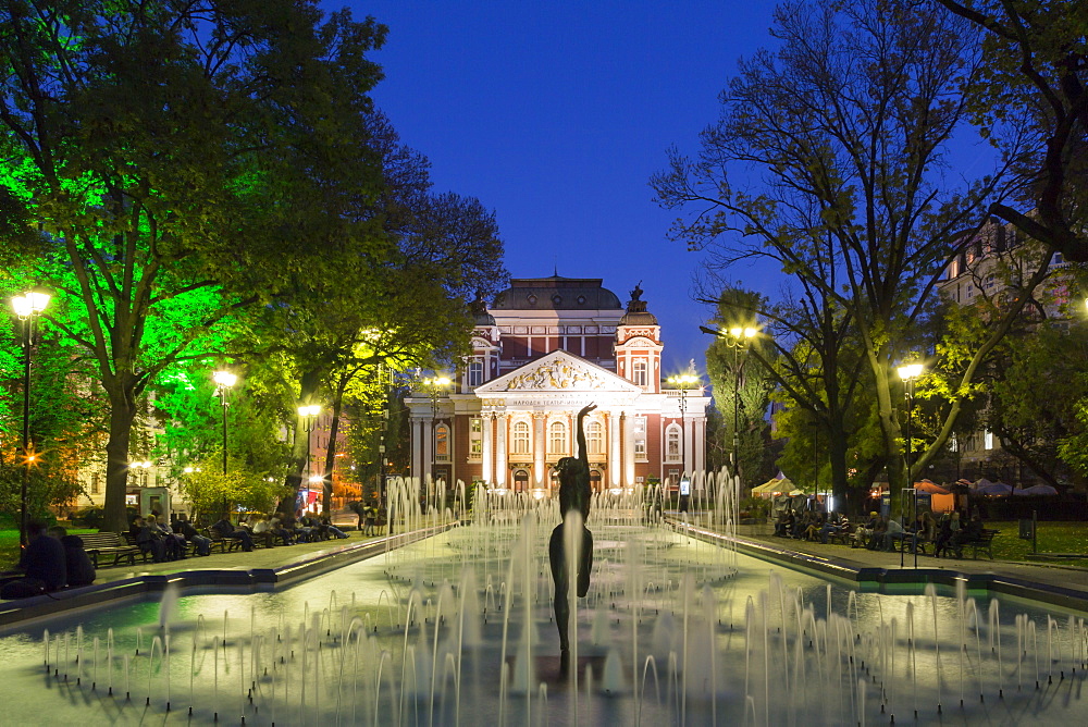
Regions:
<svg viewBox="0 0 1088 727"><path fill-rule="evenodd" d="M30 520L26 534L18 567L0 586L0 599L25 599L95 582L95 566L78 535L60 526L47 528L40 520Z"/></svg>

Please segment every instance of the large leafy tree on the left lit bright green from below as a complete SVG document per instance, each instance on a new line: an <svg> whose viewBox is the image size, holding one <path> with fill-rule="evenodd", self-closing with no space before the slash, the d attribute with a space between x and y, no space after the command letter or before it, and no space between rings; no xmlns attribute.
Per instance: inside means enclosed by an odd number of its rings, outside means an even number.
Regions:
<svg viewBox="0 0 1088 727"><path fill-rule="evenodd" d="M0 5L5 219L40 227L22 259L109 399L103 527L125 527L150 382L238 305L373 239L345 209L381 184L360 120L383 36L308 0Z"/></svg>

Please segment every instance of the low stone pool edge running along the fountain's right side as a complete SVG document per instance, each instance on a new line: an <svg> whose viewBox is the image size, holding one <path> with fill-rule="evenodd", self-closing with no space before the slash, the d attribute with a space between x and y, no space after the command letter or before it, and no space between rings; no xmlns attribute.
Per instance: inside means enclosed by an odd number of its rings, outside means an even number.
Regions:
<svg viewBox="0 0 1088 727"><path fill-rule="evenodd" d="M1000 574L968 574L944 568L882 568L857 567L834 558L799 553L769 543L749 540L740 535L726 535L697 526L668 520L678 533L687 533L698 540L720 545L735 544L737 550L762 560L781 563L799 570L817 571L824 576L856 583L865 590L878 593L901 594L904 588L924 588L927 583L955 588L964 581L967 590L1000 593L1017 599L1046 603L1070 611L1088 612L1088 593L1084 591L1051 586Z"/></svg>

